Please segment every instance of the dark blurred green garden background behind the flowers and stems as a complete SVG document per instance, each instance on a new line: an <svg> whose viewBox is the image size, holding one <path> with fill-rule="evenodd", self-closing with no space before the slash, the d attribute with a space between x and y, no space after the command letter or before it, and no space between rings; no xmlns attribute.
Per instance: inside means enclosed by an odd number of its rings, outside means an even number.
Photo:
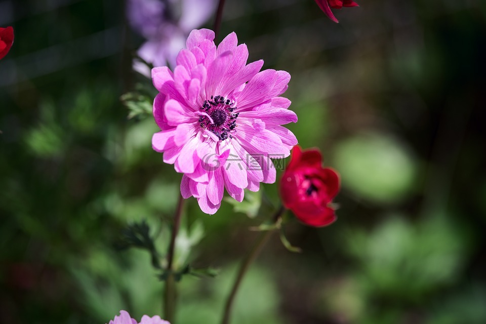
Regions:
<svg viewBox="0 0 486 324"><path fill-rule="evenodd" d="M312 0L227 0L250 61L287 70L304 148L319 147L343 189L338 221L286 226L246 277L234 324L486 322L486 2L361 0L329 20ZM206 27L212 26L211 18ZM0 322L106 323L160 314L146 251L120 250L145 220L167 246L181 176L151 149L150 117L127 92L143 38L116 0L2 0L15 43L0 61ZM249 231L277 186L242 212L185 209L178 322L216 323ZM258 210L262 204L261 212ZM248 217L250 214L253 218ZM255 217L255 214L258 214Z"/></svg>

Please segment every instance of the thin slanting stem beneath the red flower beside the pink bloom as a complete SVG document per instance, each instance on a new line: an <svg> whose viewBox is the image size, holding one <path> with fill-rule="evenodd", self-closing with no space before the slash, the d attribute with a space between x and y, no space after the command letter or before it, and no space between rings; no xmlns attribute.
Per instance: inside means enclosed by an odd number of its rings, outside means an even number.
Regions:
<svg viewBox="0 0 486 324"><path fill-rule="evenodd" d="M286 209L281 206L278 211L275 212L275 215L273 216L273 219L275 222L278 221L280 216L286 211ZM234 298L236 297L236 293L238 292L239 286L241 285L241 281L245 274L247 273L248 268L250 268L250 265L252 262L257 258L258 254L262 250L262 248L265 246L266 242L274 232L273 230L268 230L268 231L263 231L260 234L260 237L258 240L255 242L255 245L253 246L252 250L250 250L250 253L247 255L247 257L243 260L241 263L241 266L239 267L238 274L236 276L236 280L233 283L233 287L231 288L231 292L228 296L228 299L226 300L226 305L224 307L224 313L223 313L223 320L221 321L222 324L229 324L230 322L230 316L231 316L231 308L233 306Z"/></svg>

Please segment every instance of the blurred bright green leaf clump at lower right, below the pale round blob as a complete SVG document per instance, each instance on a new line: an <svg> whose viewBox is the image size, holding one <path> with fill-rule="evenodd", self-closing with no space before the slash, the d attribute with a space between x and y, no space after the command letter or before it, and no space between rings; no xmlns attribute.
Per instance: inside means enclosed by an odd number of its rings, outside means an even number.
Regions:
<svg viewBox="0 0 486 324"><path fill-rule="evenodd" d="M370 234L348 233L347 244L361 264L358 277L365 291L418 302L454 283L467 257L466 234L447 218L414 225L389 216Z"/></svg>

